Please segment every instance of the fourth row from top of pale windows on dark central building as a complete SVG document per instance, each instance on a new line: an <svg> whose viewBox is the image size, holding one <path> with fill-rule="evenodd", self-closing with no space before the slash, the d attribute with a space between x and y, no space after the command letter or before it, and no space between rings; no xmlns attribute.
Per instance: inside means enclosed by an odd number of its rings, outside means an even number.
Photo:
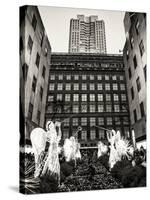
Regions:
<svg viewBox="0 0 150 200"><path fill-rule="evenodd" d="M47 107L47 113L95 113L95 112L128 112L128 108L126 105L103 105L103 104L75 104L73 106L64 105L63 108L61 106L49 105Z"/></svg>

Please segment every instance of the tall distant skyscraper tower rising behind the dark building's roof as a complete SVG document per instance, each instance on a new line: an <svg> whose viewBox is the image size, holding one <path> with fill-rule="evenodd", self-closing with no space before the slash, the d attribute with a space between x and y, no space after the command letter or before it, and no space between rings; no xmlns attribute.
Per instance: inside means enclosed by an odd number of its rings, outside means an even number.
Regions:
<svg viewBox="0 0 150 200"><path fill-rule="evenodd" d="M70 20L70 53L106 53L105 23L98 16L77 15Z"/></svg>

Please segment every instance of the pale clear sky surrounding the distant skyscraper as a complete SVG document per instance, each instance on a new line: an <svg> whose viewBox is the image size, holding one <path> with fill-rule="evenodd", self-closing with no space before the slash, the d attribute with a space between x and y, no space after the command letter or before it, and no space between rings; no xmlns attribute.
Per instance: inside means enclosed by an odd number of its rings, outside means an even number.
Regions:
<svg viewBox="0 0 150 200"><path fill-rule="evenodd" d="M105 22L107 53L119 54L125 44L124 12L81 8L39 6L52 52L68 52L70 19L78 14L98 15Z"/></svg>

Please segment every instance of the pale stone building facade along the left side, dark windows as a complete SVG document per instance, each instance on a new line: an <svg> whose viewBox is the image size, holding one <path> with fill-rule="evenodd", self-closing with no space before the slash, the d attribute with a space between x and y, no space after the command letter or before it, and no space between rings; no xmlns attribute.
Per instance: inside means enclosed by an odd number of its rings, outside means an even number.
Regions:
<svg viewBox="0 0 150 200"><path fill-rule="evenodd" d="M51 46L36 6L20 8L20 132L44 126Z"/></svg>

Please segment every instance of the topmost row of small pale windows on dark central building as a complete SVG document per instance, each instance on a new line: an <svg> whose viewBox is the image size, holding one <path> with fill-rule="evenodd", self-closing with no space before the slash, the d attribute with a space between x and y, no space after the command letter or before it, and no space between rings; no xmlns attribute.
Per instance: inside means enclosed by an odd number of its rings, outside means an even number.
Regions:
<svg viewBox="0 0 150 200"><path fill-rule="evenodd" d="M51 74L50 75L50 80L79 80L81 77L82 80L103 80L105 79L110 80L112 79L113 81L116 81L117 79L119 79L120 81L124 80L124 76L123 75L71 75L71 74L59 74L59 75L55 75L55 74Z"/></svg>

